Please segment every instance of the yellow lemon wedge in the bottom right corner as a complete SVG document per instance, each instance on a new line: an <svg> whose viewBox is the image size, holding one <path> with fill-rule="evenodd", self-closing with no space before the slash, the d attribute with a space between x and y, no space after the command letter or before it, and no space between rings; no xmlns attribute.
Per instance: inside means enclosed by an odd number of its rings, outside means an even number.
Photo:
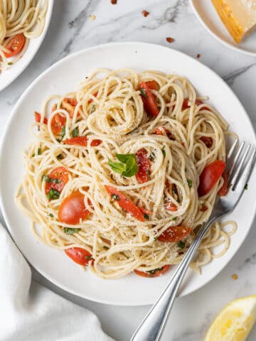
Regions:
<svg viewBox="0 0 256 341"><path fill-rule="evenodd" d="M256 295L235 300L210 325L204 341L245 341L256 321Z"/></svg>

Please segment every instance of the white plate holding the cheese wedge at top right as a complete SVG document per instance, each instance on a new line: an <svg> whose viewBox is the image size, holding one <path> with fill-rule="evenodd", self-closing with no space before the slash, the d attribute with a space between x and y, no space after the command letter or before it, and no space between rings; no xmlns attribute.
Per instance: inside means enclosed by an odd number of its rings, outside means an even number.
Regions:
<svg viewBox="0 0 256 341"><path fill-rule="evenodd" d="M190 0L190 3L199 21L220 43L246 55L256 55L256 32L237 44L220 20L210 0Z"/></svg>

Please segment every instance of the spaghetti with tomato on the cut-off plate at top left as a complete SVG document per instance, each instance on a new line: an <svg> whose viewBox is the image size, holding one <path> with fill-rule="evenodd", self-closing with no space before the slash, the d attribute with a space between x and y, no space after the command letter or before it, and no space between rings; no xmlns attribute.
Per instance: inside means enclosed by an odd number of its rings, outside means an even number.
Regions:
<svg viewBox="0 0 256 341"><path fill-rule="evenodd" d="M0 0L0 71L16 63L41 35L48 0Z"/></svg>

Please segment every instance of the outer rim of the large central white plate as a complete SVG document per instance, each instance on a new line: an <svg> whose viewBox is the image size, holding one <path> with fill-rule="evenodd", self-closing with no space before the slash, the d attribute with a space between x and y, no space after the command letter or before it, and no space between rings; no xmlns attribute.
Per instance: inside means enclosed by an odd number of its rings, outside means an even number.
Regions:
<svg viewBox="0 0 256 341"><path fill-rule="evenodd" d="M56 67L56 65L60 65L61 63L64 63L66 60L69 60L69 59L72 59L73 57L77 56L77 55L82 55L83 53L87 53L88 51L90 50L96 50L98 48L105 48L105 47L112 47L114 45L137 45L139 44L140 46L141 45L144 45L144 46L148 46L148 47L154 47L154 48L161 48L163 50L172 50L174 51L174 53L178 54L178 55L183 55L185 56L186 58L190 59L190 60L193 60L193 63L198 63L201 65L201 67L203 67L205 70L207 70L207 72L209 72L209 74L212 74L214 77L216 77L222 84L223 84L223 87L226 87L228 89L228 91L230 91L233 96L235 97L235 99L239 102L240 104L240 107L245 115L245 117L247 118L247 121L248 121L248 124L250 124L251 126L251 129L252 129L252 135L253 135L253 139L255 141L255 144L256 144L256 134L255 134L255 130L252 126L252 121L250 120L250 117L249 115L247 114L245 108L243 107L242 103L240 102L240 99L237 97L237 95L235 94L235 92L233 92L233 90L228 86L228 84L220 77L220 75L218 75L216 72L214 72L213 70L210 69L210 67L204 65L203 63L201 63L200 61L194 59L193 57L191 57L190 55L186 55L186 53L183 53L179 50L174 50L172 48L168 48L164 45L160 45L160 44L156 44L156 43L144 43L144 42L140 42L140 41L129 41L129 42L111 42L111 43L104 43L104 44L100 44L100 45L94 45L94 46L90 46L88 48L84 48L82 50L79 50L75 53L71 53L70 55L66 56L65 58L62 58L61 60L58 60L58 62L54 63L53 65L51 65L50 67L48 67L46 70L44 70L41 75L38 75L38 77L36 77L35 80L33 80L33 82L31 83L31 85L29 85L27 87L27 89L23 92L23 94L21 94L21 97L18 99L18 101L16 102L16 104L14 105L14 107L11 109L11 115L8 119L8 121L6 122L6 126L4 128L4 132L3 132L3 135L2 135L2 138L1 138L1 141L0 141L0 208L1 208L1 212L4 216L4 220L6 222L6 226L7 226L7 229L9 231L9 234L11 234L11 223L9 221L9 217L7 216L7 213L6 213L6 210L5 210L5 204L4 204L4 197L3 197L3 194L2 194L2 181L1 181L1 155L4 153L4 146L5 146L5 142L6 142L6 139L7 139L7 136L8 136L8 131L9 131L9 128L11 126L11 122L12 120L14 119L15 117L15 114L17 112L17 109L20 105L21 102L23 102L23 98L26 97L27 93L30 92L30 90L36 85L36 83L38 81L41 80L42 77L44 77L48 72L50 72L52 69L54 69ZM253 214L250 218L250 222L249 222L249 227L247 229L247 232L242 235L241 237L241 242L240 242L240 245L237 247L237 249L235 249L233 251L233 253L229 255L228 259L226 260L225 264L220 266L218 271L215 273L215 275L211 278L208 278L206 282L204 283L201 283L198 285L198 287L196 289L191 289L191 291L188 291L186 293L181 293L181 295L179 297L182 297L182 296L186 296L190 293L193 293L195 291L198 291L198 289L202 288L203 286L205 286L206 284L208 284L210 281L213 280L213 278L215 278L216 276L218 276L218 274L220 274L221 271L223 271L223 269L225 268L225 266L228 265L228 263L230 262L231 259L233 259L233 256L235 256L235 254L238 252L238 250L240 249L240 247L242 246L243 242L245 241L245 238L247 237L247 234L250 232L250 228L252 227L252 222L254 221L254 218L255 218L255 212L256 212L256 206L254 207L254 210L253 210ZM14 240L14 243L16 244L16 240L14 239L14 237L12 236L11 234L11 237L12 239ZM19 249L19 248L18 248ZM20 250L21 251L21 250ZM21 254L22 254L22 251L21 251ZM26 258L26 257L25 257ZM27 260L27 259L26 259ZM28 261L28 260L27 260ZM120 305L120 306L142 306L142 305L149 305L152 303L152 301L148 301L147 298L144 299L144 301L141 301L139 304L134 304L134 303L124 303L122 300L120 301L117 300L117 301L114 301L112 302L111 299L108 299L108 298L95 298L92 296L87 296L86 293L78 293L77 291L73 290L72 288L69 288L68 286L65 286L63 285L63 283L59 283L58 281L55 281L54 278L52 278L52 276L50 276L49 274L47 274L45 271L43 271L42 269L40 269L40 266L34 266L33 264L31 264L31 262L28 261L28 264L30 264L31 266L33 266L34 269L36 269L36 271L38 271L39 274L41 274L41 276L43 276L44 278L46 278L48 281L50 281L51 283L53 283L55 286L57 286L58 288L61 288L63 289L64 291L66 291L67 293L72 293L73 295L75 296L78 296L80 298L85 298L87 300L90 300L90 301L94 301L94 302L98 302L98 303L104 303L104 304L109 304L109 305Z"/></svg>

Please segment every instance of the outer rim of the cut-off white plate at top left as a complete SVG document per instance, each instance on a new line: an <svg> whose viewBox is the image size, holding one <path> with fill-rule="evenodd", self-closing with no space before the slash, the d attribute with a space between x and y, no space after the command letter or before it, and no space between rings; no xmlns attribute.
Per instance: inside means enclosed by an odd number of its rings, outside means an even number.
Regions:
<svg viewBox="0 0 256 341"><path fill-rule="evenodd" d="M54 6L54 0L48 0L48 10L46 12L46 24L45 24L45 27L43 28L43 32L39 36L41 40L39 41L38 46L36 46L35 50L33 51L31 58L28 58L26 63L24 63L23 67L21 67L21 70L19 70L13 77L9 78L9 80L7 80L7 82L3 86L0 85L0 91L6 89L6 87L8 87L12 82L14 82L14 80L16 80L16 78L18 78L18 76L21 75L21 73L32 62L33 58L36 57L36 54L38 53L39 48L41 48L43 40L46 38L46 33L47 33L48 28L50 26L51 17L53 15L53 6ZM25 55L26 55L26 52L24 53L23 57ZM21 60L22 60L22 58L21 58Z"/></svg>

